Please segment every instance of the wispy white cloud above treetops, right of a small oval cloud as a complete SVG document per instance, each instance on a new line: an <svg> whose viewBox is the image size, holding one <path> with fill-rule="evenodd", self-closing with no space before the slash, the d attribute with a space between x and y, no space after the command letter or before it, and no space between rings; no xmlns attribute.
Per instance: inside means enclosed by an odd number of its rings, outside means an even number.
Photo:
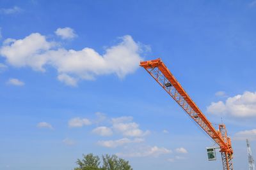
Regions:
<svg viewBox="0 0 256 170"><path fill-rule="evenodd" d="M112 118L114 131L130 137L141 137L150 133L150 131L142 131L138 124L131 121L132 117Z"/></svg>

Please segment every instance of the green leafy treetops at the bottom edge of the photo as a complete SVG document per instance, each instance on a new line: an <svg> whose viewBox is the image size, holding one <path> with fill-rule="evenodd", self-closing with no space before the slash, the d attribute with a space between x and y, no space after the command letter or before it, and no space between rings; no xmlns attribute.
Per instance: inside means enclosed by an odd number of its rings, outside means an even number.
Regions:
<svg viewBox="0 0 256 170"><path fill-rule="evenodd" d="M116 155L102 155L102 167L100 167L100 158L92 153L83 155L83 159L77 159L77 165L74 170L132 170L129 161L118 158Z"/></svg>

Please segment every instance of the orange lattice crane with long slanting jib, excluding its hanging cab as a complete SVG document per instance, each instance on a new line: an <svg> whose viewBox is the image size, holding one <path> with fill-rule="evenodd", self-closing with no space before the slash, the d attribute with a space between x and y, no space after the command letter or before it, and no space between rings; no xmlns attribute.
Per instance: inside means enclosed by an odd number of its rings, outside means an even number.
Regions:
<svg viewBox="0 0 256 170"><path fill-rule="evenodd" d="M157 83L188 113L189 117L220 146L223 170L234 170L232 164L233 150L225 125L220 124L218 130L212 126L211 122L188 96L161 59L141 61L140 66L144 67Z"/></svg>

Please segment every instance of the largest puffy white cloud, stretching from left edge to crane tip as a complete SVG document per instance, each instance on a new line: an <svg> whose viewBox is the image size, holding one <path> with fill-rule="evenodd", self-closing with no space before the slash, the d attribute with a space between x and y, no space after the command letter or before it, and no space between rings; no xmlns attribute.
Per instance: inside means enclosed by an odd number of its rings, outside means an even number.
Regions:
<svg viewBox="0 0 256 170"><path fill-rule="evenodd" d="M116 74L124 78L139 67L143 46L131 36L121 38L118 45L106 48L100 55L92 48L66 50L61 43L47 41L45 36L33 33L24 39L6 39L0 55L14 67L31 67L45 71L45 66L56 68L59 80L75 85L78 80L94 80L96 76ZM71 79L72 78L72 79Z"/></svg>

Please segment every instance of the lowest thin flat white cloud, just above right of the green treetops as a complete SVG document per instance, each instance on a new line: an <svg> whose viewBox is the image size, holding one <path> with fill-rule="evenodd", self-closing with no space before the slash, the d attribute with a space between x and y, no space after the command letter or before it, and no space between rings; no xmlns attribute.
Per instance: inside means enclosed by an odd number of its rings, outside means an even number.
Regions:
<svg viewBox="0 0 256 170"><path fill-rule="evenodd" d="M153 146L153 147L143 148L139 152L116 153L116 155L121 157L158 157L159 155L168 154L168 153L172 153L172 150Z"/></svg>

